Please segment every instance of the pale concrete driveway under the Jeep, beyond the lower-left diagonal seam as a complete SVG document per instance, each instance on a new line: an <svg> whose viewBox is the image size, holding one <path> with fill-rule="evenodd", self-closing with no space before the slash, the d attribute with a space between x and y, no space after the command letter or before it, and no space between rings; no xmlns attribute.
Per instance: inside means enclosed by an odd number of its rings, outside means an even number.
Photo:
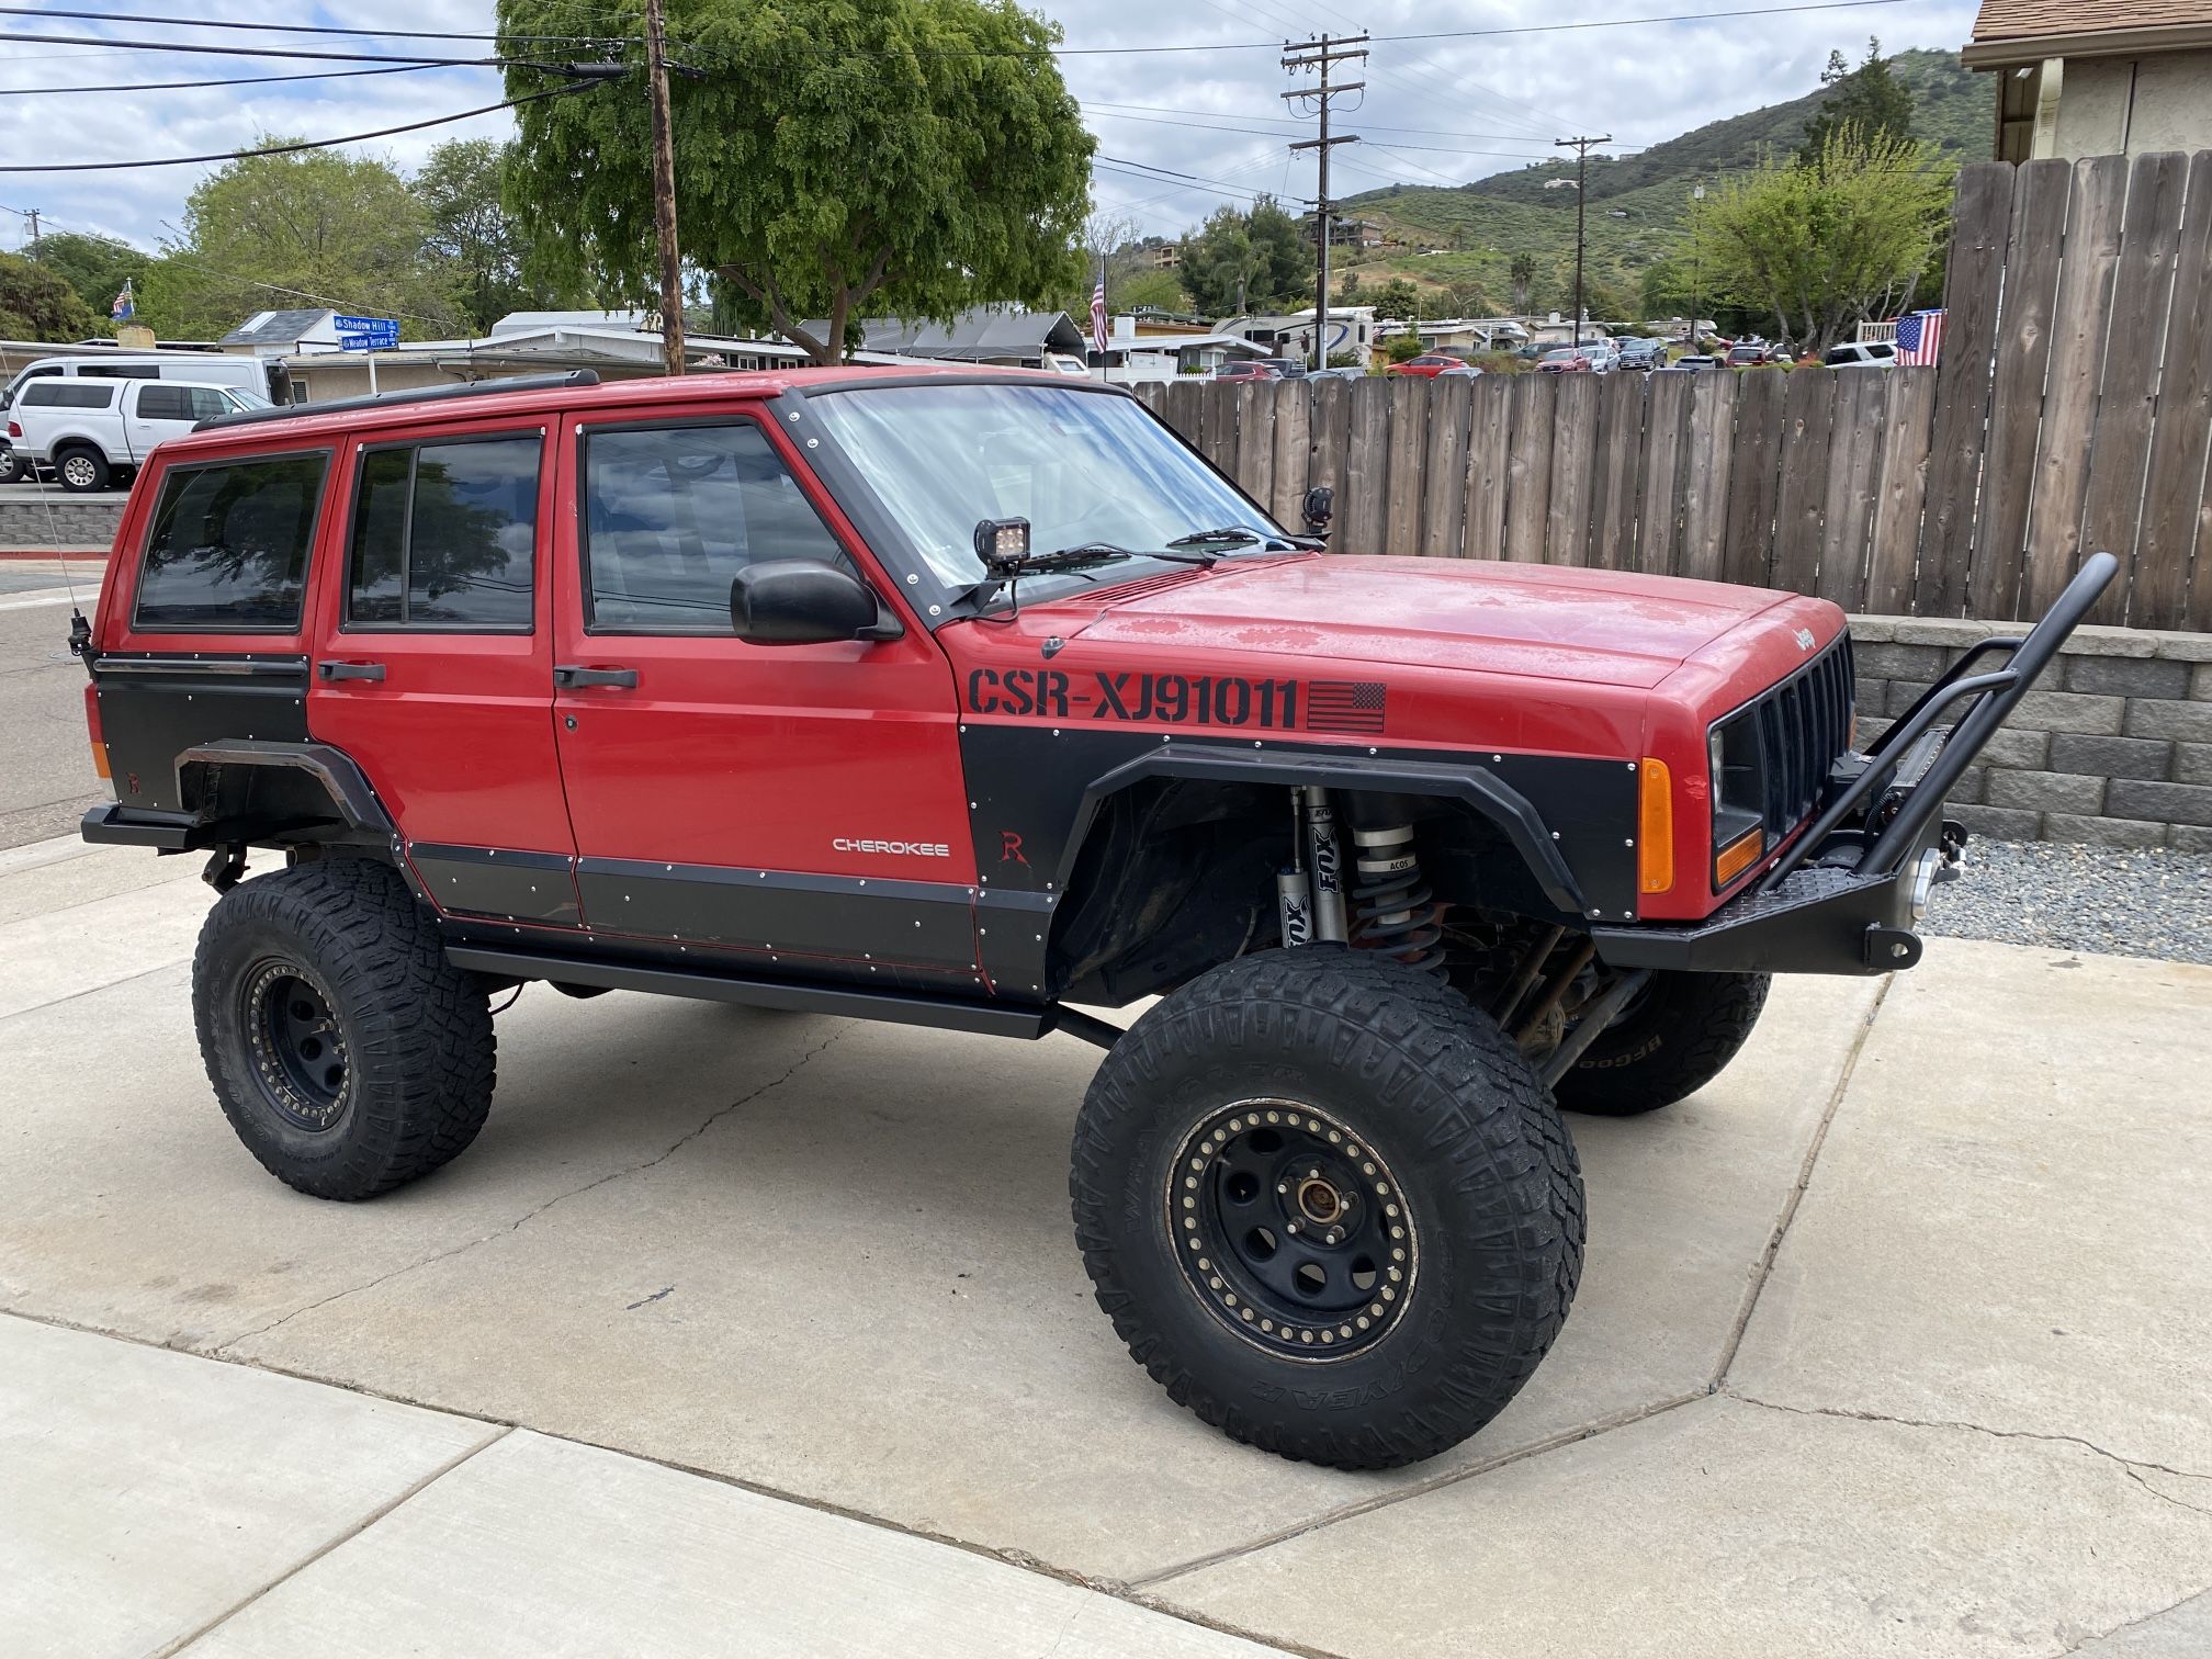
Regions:
<svg viewBox="0 0 2212 1659"><path fill-rule="evenodd" d="M478 1144L316 1203L208 1095L192 874L0 852L0 1310L27 1321L1307 1652L2212 1650L2208 969L1936 940L1893 982L1781 982L1699 1097L1573 1119L1588 1267L1524 1396L1347 1475L1179 1411L1093 1305L1066 1212L1093 1048L531 987Z"/></svg>

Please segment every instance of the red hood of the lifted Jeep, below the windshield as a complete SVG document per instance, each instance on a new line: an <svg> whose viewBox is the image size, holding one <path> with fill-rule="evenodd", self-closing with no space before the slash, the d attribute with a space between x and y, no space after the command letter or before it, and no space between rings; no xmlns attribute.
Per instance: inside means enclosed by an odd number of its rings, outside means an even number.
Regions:
<svg viewBox="0 0 2212 1659"><path fill-rule="evenodd" d="M1102 586L1022 617L1086 648L1170 648L1194 661L1252 653L1650 690L1787 597L1546 564L1314 555Z"/></svg>

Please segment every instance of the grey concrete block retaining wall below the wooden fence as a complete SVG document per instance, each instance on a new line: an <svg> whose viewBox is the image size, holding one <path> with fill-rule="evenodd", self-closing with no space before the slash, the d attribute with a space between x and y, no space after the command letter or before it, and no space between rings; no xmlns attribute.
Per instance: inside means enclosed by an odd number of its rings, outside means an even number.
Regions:
<svg viewBox="0 0 2212 1659"><path fill-rule="evenodd" d="M1851 617L1860 743L1966 646L2022 630ZM2212 635L2077 628L1951 805L1969 830L2002 841L2212 852Z"/></svg>

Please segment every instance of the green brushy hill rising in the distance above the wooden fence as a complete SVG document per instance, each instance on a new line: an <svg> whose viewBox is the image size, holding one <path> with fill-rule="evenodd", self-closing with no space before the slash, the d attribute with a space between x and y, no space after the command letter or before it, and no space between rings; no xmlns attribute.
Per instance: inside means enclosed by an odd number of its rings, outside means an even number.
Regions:
<svg viewBox="0 0 2212 1659"><path fill-rule="evenodd" d="M1995 122L1989 75L1960 69L1958 53L1947 51L1898 53L1891 69L1913 93L1913 137L1958 161L1989 157ZM1690 190L1754 168L1763 155L1794 150L1823 97L1825 88L1708 122L1637 155L1593 155L1586 232L1593 292L1632 305L1648 265L1688 259ZM1338 257L1338 263L1356 272L1363 288L1405 276L1425 288L1475 290L1482 303L1469 310L1500 312L1511 305L1513 257L1526 252L1537 263L1535 310L1564 310L1573 292L1575 190L1559 181L1573 177L1575 164L1562 159L1458 188L1389 186L1349 197L1340 210L1374 221L1398 246L1354 254L1349 263Z"/></svg>

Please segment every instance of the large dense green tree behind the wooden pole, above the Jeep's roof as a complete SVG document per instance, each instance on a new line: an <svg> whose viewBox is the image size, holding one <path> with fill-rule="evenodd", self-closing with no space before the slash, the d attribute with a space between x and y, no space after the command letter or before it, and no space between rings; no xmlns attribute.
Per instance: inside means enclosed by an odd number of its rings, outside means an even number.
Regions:
<svg viewBox="0 0 2212 1659"><path fill-rule="evenodd" d="M511 35L630 38L619 0L500 0ZM1011 0L675 0L672 148L686 259L734 310L834 363L869 312L951 319L1068 281L1093 139ZM509 69L509 91L542 91ZM653 288L650 119L617 82L518 111L507 206L531 270ZM810 325L807 319L827 319Z"/></svg>

